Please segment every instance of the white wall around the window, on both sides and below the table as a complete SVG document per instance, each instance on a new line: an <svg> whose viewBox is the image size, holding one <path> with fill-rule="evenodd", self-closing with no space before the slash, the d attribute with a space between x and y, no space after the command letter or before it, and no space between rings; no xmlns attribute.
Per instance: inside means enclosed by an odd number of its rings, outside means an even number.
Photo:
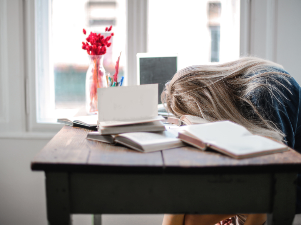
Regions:
<svg viewBox="0 0 301 225"><path fill-rule="evenodd" d="M26 130L23 2L26 1L0 0L1 225L47 224L44 174L32 172L30 161L50 140L51 134ZM301 1L252 0L251 4L252 35L249 42L244 43L246 51L282 64L301 84ZM248 38L242 42L245 40ZM34 51L33 46L27 51ZM39 135L45 138L34 138ZM16 138L8 138L13 136ZM90 223L90 216L76 216L75 219L78 224ZM155 225L161 223L162 215L105 215L103 221L104 225Z"/></svg>

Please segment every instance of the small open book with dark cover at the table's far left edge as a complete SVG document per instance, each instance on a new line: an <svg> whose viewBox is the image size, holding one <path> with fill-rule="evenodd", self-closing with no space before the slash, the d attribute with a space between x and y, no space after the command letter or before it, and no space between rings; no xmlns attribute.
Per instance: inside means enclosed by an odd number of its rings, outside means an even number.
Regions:
<svg viewBox="0 0 301 225"><path fill-rule="evenodd" d="M96 127L97 120L98 120L98 115L92 115L92 116L76 116L69 119L68 118L57 119L57 122L73 127L77 127L77 126Z"/></svg>

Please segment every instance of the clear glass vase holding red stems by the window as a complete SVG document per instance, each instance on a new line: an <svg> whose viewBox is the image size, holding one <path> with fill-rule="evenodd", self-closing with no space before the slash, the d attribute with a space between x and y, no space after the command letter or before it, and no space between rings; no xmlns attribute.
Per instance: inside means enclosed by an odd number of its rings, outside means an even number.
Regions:
<svg viewBox="0 0 301 225"><path fill-rule="evenodd" d="M104 55L89 55L90 65L86 73L86 111L88 115L97 114L97 88L107 88Z"/></svg>

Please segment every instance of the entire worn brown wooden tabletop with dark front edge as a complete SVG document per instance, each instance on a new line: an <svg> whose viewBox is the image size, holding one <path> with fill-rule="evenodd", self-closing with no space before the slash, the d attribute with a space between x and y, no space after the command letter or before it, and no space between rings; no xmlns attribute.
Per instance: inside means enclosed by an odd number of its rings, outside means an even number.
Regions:
<svg viewBox="0 0 301 225"><path fill-rule="evenodd" d="M301 172L294 150L234 159L194 147L141 153L86 139L91 130L64 126L31 162L32 170L103 173L265 173Z"/></svg>

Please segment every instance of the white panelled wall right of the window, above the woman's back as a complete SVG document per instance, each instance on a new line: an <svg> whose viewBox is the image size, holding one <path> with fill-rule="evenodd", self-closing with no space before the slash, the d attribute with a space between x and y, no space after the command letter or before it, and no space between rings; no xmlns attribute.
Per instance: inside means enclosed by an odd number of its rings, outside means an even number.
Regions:
<svg viewBox="0 0 301 225"><path fill-rule="evenodd" d="M240 25L241 54L250 53L279 63L301 84L301 1L241 0L241 3L244 17Z"/></svg>

